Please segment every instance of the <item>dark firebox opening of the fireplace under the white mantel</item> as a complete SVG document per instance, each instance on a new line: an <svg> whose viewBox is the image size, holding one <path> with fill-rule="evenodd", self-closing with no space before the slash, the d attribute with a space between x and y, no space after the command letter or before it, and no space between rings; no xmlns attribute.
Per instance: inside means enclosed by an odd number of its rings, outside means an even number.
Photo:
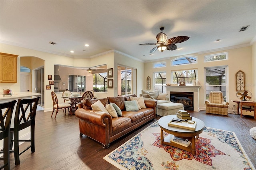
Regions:
<svg viewBox="0 0 256 170"><path fill-rule="evenodd" d="M182 103L185 110L194 111L193 92L170 91L170 101L174 103Z"/></svg>

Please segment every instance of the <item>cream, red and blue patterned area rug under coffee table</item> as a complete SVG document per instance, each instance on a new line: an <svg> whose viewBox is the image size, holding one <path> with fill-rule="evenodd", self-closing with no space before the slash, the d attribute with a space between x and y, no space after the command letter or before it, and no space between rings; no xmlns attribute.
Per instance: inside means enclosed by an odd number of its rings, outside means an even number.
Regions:
<svg viewBox="0 0 256 170"><path fill-rule="evenodd" d="M157 122L104 159L119 169L128 170L255 169L234 132L205 127L196 140L196 155L192 155L172 146L161 145Z"/></svg>

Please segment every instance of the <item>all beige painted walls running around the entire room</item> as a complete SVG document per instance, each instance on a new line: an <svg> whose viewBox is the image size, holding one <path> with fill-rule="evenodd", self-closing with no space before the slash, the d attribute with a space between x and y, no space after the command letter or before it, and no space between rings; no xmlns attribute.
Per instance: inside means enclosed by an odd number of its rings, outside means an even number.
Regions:
<svg viewBox="0 0 256 170"><path fill-rule="evenodd" d="M17 47L13 45L7 45L1 43L1 52L3 53L10 53L10 54L16 54L18 56L18 82L17 83L0 83L0 88L10 88L14 92L20 91L20 57L27 57L27 56L33 56L31 60L31 67L34 69L35 65L38 67L39 65L36 58L38 57L42 60L44 60L44 79L48 80L48 75L54 75L54 64L58 65L69 65L73 67L95 67L99 65L105 65L107 64L108 68L114 68L114 88L109 89L108 93L96 93L96 97L103 98L108 96L116 96L118 95L117 91L117 74L118 71L117 65L123 65L128 66L134 69L137 69L137 92L136 94L139 95L141 93L141 89L146 90L146 77L150 76L151 78L151 90L153 91L153 73L158 71L166 71L166 83L171 83L171 76L170 71L173 70L183 70L183 69L198 69L198 80L201 83L202 87L200 88L200 108L204 108L204 95L205 95L205 88L204 88L204 67L212 67L212 66L218 66L218 65L228 65L228 101L231 103L229 106L229 109L232 110L233 103L231 100L237 100L236 97L236 90L235 90L235 73L239 71L240 69L244 71L246 74L246 89L250 90L252 94L254 95L256 92L256 78L255 78L255 72L256 72L256 45L248 46L248 47L241 47L236 49L229 49L224 51L216 51L212 53L204 53L204 54L190 54L198 57L198 63L191 64L191 65L183 65L183 66L175 66L171 67L170 63L171 60L176 57L171 57L169 59L163 59L160 61L166 61L167 67L165 68L157 68L152 69L152 64L154 62L148 62L144 63L143 61L138 61L138 59L134 59L133 57L126 56L122 53L116 53L114 51L110 51L106 54L99 55L97 57L94 57L92 59L81 59L81 58L71 58L71 57L65 57L61 55L46 53L42 51L36 51L33 49L26 49L23 47ZM171 52L171 51L166 51ZM214 62L208 62L204 63L204 55L214 54L214 53L222 53L222 52L228 52L228 60L224 61L214 61ZM177 56L179 57L179 56ZM155 62L160 62L155 61ZM90 76L87 76L88 79L90 79ZM88 82L88 80L87 80ZM45 81L45 86L48 85L48 81ZM52 85L52 89L54 89L54 85ZM86 87L86 89L90 89L89 87ZM45 89L45 111L49 111L52 109L52 101L51 101L51 93L52 90L46 90ZM62 94L58 94L58 97L60 97ZM255 97L253 97L254 100Z"/></svg>

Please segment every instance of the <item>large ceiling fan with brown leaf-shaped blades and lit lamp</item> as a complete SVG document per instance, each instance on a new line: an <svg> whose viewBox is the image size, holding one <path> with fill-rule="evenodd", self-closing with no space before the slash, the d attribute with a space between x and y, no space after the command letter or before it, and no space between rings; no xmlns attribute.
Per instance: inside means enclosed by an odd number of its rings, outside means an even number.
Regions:
<svg viewBox="0 0 256 170"><path fill-rule="evenodd" d="M142 43L139 45L158 45L156 47L154 47L153 49L151 49L149 52L152 53L154 51L156 51L157 49L159 51L164 51L164 50L175 50L177 49L177 46L175 45L175 43L181 43L184 41L187 41L189 39L189 37L187 36L178 36L178 37L173 37L170 39L167 39L167 35L163 33L164 27L161 27L160 30L162 32L158 33L156 35L156 40L157 43Z"/></svg>

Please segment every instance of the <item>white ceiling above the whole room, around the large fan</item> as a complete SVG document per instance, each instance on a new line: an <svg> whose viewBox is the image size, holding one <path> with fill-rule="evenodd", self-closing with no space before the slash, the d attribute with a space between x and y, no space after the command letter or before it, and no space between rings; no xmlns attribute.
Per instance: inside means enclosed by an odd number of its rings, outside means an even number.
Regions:
<svg viewBox="0 0 256 170"><path fill-rule="evenodd" d="M115 49L142 61L256 41L255 0L0 1L0 41L75 58ZM242 26L248 26L239 32ZM189 36L180 50L149 51L164 27L169 38ZM220 42L214 42L221 39ZM55 42L55 45L49 44ZM88 43L90 46L85 47ZM73 50L74 53L70 53Z"/></svg>

